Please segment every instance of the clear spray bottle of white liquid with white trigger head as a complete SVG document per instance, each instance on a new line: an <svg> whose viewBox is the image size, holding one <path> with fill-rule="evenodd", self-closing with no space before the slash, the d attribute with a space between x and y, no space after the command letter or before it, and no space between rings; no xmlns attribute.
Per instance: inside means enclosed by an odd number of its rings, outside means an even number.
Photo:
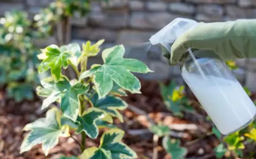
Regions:
<svg viewBox="0 0 256 159"><path fill-rule="evenodd" d="M150 38L152 45L162 44L171 53L171 44L197 26L191 19L176 18ZM256 106L225 64L217 58L189 57L181 66L181 76L223 135L239 131L256 117Z"/></svg>

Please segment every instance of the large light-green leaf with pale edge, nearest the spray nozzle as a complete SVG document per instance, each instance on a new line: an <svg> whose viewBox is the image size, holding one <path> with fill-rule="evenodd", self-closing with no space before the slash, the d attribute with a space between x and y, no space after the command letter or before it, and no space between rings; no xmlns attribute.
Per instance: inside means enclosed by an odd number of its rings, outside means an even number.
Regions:
<svg viewBox="0 0 256 159"><path fill-rule="evenodd" d="M130 72L151 72L143 62L134 59L125 59L125 48L117 45L102 52L104 65L99 66L93 74L93 82L100 98L109 94L113 81L131 93L140 93L141 83Z"/></svg>

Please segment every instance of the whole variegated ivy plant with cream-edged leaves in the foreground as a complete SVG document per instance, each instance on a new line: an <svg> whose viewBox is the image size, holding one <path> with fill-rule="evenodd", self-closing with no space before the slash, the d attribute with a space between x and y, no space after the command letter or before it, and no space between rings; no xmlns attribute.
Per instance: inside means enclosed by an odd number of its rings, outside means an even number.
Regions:
<svg viewBox="0 0 256 159"><path fill-rule="evenodd" d="M36 144L42 144L44 153L58 143L59 137L70 137L69 131L75 129L81 134L81 158L136 158L136 153L122 143L124 132L115 127L113 118L123 122L119 110L127 107L120 96L125 90L140 93L141 83L130 72L151 72L143 62L123 58L125 48L117 45L102 52L103 65L94 64L86 70L88 58L100 52L104 40L82 45L68 44L61 47L49 45L38 56L43 60L39 65L39 73L51 70L51 77L41 81L37 87L39 96L46 97L42 109L56 102L59 109L53 107L47 111L46 118L40 118L27 124L29 131L20 147L26 152ZM77 79L69 80L61 69L72 66ZM86 136L96 139L100 128L109 128L101 136L98 148L86 148Z"/></svg>

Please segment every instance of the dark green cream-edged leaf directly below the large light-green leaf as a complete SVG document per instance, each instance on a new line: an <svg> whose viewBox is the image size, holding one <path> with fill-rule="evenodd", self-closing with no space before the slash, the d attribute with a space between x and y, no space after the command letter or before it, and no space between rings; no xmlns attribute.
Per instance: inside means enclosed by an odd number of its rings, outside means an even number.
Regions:
<svg viewBox="0 0 256 159"><path fill-rule="evenodd" d="M89 95L87 95L89 98ZM90 98L90 104L93 107L99 108L111 116L117 117L121 122L123 122L122 115L118 110L125 110L127 103L119 97L114 97L113 95L107 95L101 99L98 98L98 94L95 93L92 98Z"/></svg>

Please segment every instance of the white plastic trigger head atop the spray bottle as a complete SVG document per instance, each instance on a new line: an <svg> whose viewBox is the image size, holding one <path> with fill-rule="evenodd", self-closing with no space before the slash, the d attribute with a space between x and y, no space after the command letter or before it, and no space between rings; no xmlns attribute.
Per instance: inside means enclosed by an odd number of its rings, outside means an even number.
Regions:
<svg viewBox="0 0 256 159"><path fill-rule="evenodd" d="M152 45L162 44L171 52L171 44L189 29L197 26L197 22L191 19L176 18L159 32L150 37Z"/></svg>

